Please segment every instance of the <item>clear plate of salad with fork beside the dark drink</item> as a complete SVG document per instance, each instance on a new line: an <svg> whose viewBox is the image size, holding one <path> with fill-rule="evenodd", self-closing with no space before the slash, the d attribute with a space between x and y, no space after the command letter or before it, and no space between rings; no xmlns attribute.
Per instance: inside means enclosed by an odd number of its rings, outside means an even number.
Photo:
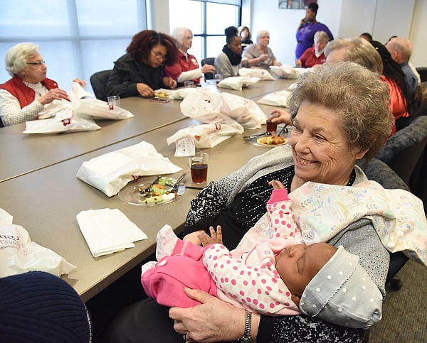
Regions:
<svg viewBox="0 0 427 343"><path fill-rule="evenodd" d="M167 204L178 200L185 192L184 184L179 184L174 188L175 183L176 179L167 176L160 178L157 178L156 175L143 176L122 188L119 198L132 205Z"/></svg>

